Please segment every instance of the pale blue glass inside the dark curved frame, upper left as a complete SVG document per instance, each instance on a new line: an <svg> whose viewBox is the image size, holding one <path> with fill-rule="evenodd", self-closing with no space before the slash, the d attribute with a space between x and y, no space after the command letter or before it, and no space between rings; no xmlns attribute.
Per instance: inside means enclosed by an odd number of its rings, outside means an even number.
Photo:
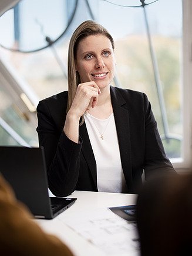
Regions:
<svg viewBox="0 0 192 256"><path fill-rule="evenodd" d="M0 19L0 45L22 52L45 48L48 38L54 42L68 28L76 2L22 0Z"/></svg>

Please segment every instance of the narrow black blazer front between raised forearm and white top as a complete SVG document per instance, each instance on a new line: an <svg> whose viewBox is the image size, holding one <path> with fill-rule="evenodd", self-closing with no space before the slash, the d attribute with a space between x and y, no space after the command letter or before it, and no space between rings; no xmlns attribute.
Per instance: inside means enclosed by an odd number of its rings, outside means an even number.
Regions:
<svg viewBox="0 0 192 256"><path fill-rule="evenodd" d="M97 169L96 169L96 161L95 156L93 154L92 145L90 144L89 135L87 132L86 124L84 122L83 125L79 127L79 135L83 139L82 145L82 154L85 157L87 165L90 169L90 172L93 177L93 181L95 183L95 187L97 189Z"/></svg>

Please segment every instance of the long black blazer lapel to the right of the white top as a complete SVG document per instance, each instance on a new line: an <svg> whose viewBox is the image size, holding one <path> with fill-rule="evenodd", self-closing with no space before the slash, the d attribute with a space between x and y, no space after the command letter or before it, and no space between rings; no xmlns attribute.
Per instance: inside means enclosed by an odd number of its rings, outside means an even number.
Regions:
<svg viewBox="0 0 192 256"><path fill-rule="evenodd" d="M129 110L127 102L115 87L110 87L114 121L119 140L120 157L127 187L132 187L132 157L130 145Z"/></svg>

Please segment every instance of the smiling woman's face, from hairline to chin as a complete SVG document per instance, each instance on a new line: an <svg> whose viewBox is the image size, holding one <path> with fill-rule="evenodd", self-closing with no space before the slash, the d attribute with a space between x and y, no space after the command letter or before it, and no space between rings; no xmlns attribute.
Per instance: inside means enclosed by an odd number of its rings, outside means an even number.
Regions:
<svg viewBox="0 0 192 256"><path fill-rule="evenodd" d="M95 81L100 89L107 87L115 71L114 52L109 38L90 35L82 39L75 63L81 83Z"/></svg>

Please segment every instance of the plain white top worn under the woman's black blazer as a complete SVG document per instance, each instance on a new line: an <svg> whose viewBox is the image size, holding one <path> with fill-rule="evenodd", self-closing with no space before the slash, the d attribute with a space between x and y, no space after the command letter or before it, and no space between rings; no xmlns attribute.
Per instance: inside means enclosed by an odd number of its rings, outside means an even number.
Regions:
<svg viewBox="0 0 192 256"><path fill-rule="evenodd" d="M84 117L96 160L99 192L127 192L113 113L107 119L87 112Z"/></svg>

